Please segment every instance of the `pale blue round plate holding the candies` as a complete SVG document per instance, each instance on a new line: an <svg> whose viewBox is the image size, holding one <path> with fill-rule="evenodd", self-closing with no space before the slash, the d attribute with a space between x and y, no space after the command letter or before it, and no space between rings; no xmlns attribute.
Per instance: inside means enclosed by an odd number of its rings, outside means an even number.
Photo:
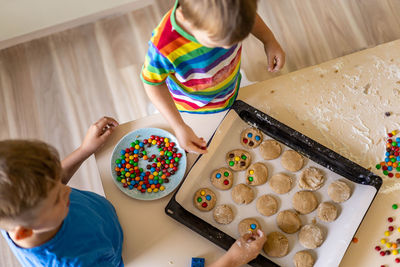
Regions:
<svg viewBox="0 0 400 267"><path fill-rule="evenodd" d="M116 163L115 161L121 157L121 150L126 149L130 147L130 144L134 142L135 140L143 141L144 139L150 138L151 135L154 136L161 136L161 137L166 137L168 138L171 142L174 142L176 144L176 148L178 151L176 153L181 153L182 157L179 160L179 166L178 170L176 171L175 174L171 175L168 179L168 183L163 183L165 190L164 191L158 191L156 193L154 192L145 192L142 193L138 191L136 188L129 189L129 188L124 188L122 183L117 180L117 172L115 171ZM159 151L157 146L153 145L151 147L145 146L145 150L147 152L147 155L159 155ZM183 179L183 176L185 175L186 171L186 153L185 151L179 147L177 139L175 138L174 135L171 133L163 130L163 129L158 129L158 128L142 128L135 130L133 132L130 132L126 134L124 137L119 140L118 144L114 147L113 153L111 155L111 176L112 179L115 183L115 185L125 194L128 196L135 198L135 199L140 199L140 200L155 200L159 199L162 197L167 196L170 194L174 189L180 184L180 182ZM144 171L146 171L146 166L149 164L147 160L140 159L139 160L139 167L143 168Z"/></svg>

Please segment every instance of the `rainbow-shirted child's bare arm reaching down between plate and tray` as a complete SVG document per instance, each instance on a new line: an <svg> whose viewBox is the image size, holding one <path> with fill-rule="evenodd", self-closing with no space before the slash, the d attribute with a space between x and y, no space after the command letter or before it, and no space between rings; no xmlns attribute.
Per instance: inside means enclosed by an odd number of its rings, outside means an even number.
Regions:
<svg viewBox="0 0 400 267"><path fill-rule="evenodd" d="M143 84L150 100L174 130L179 145L189 152L206 153L206 141L197 137L192 128L183 121L167 85L165 83L160 85Z"/></svg>

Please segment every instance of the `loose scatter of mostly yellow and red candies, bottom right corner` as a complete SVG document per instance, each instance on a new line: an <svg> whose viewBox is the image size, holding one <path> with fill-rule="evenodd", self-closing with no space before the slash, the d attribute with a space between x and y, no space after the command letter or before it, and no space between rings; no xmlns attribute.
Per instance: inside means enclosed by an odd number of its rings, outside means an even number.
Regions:
<svg viewBox="0 0 400 267"><path fill-rule="evenodd" d="M397 210L398 209L397 204L392 205L392 209ZM375 246L375 250L383 257L383 256L390 256L394 255L397 256L400 254L400 238L397 238L395 241L393 240L388 240L388 237L393 235L395 226L392 225L394 218L389 217L387 218L387 221L389 223L388 230L384 232L385 237L381 239L381 244ZM400 232L400 227L397 228L397 231ZM399 255L400 256L400 255ZM400 258L396 257L394 259L396 263L400 263ZM381 265L385 266L385 265Z"/></svg>

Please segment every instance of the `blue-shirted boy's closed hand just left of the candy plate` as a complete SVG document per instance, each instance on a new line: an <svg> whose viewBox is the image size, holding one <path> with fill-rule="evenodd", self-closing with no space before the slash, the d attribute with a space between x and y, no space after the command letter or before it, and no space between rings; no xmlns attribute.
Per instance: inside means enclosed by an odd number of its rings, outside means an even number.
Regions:
<svg viewBox="0 0 400 267"><path fill-rule="evenodd" d="M90 125L80 147L81 150L87 153L87 155L96 152L104 145L116 126L118 126L118 122L110 117L103 117Z"/></svg>

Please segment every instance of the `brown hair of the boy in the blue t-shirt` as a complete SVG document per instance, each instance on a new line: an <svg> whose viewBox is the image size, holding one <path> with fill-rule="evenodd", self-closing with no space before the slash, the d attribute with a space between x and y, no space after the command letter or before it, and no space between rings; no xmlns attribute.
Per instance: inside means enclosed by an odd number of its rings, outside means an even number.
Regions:
<svg viewBox="0 0 400 267"><path fill-rule="evenodd" d="M52 146L41 141L0 141L0 220L34 208L60 178L61 163Z"/></svg>

